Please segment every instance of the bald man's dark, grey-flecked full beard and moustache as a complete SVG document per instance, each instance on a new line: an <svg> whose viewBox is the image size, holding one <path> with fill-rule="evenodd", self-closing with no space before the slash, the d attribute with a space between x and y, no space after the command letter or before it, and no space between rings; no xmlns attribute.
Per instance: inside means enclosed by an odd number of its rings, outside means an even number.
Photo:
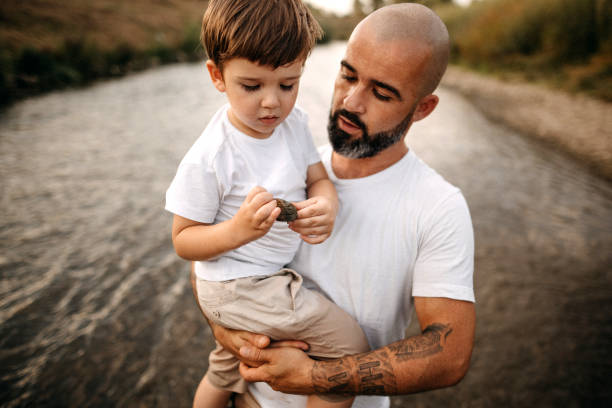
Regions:
<svg viewBox="0 0 612 408"><path fill-rule="evenodd" d="M345 109L337 110L335 113L332 112L329 114L329 123L327 125L329 141L336 153L351 159L363 159L375 156L402 139L402 136L404 136L406 130L410 126L410 121L415 110L416 105L396 127L373 135L368 134L368 129L365 123L359 119L359 116ZM338 117L340 115L344 116L361 129L360 138L351 140L351 135L338 127Z"/></svg>

